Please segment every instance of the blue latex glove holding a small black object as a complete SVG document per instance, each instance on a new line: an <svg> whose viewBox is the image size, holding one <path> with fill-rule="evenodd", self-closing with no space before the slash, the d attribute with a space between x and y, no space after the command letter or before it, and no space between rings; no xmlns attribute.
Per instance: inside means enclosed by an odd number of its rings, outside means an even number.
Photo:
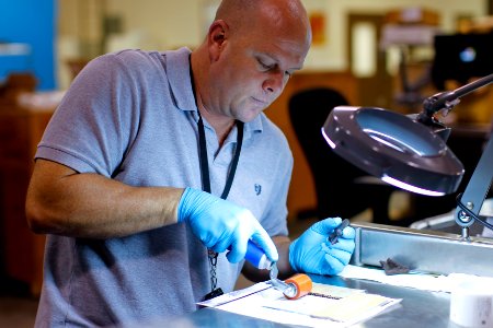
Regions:
<svg viewBox="0 0 493 328"><path fill-rule="evenodd" d="M351 226L343 230L334 245L329 235L342 222L341 218L325 219L314 223L289 245L289 263L297 272L337 274L349 262L354 251L355 231Z"/></svg>

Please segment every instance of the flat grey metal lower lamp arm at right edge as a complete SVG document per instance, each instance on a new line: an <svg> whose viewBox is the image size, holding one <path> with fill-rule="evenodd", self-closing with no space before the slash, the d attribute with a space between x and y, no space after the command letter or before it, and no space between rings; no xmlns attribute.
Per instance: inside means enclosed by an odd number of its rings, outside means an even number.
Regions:
<svg viewBox="0 0 493 328"><path fill-rule="evenodd" d="M456 209L456 222L462 227L472 225L474 221L481 220L479 213L493 183L493 138L486 143L481 159L472 173L471 179L462 195L458 197ZM484 224L492 229L489 224Z"/></svg>

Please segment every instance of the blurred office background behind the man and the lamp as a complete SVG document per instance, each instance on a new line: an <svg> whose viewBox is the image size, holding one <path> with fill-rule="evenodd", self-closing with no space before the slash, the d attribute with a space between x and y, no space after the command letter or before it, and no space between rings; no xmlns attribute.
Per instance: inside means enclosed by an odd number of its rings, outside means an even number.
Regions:
<svg viewBox="0 0 493 328"><path fill-rule="evenodd" d="M429 199L375 187L375 183L369 188L363 183L366 189L355 192L357 187L348 188L348 180L334 177L348 173L351 164L336 166L335 160L334 165L317 172L308 156L310 150L301 142L303 128L294 126L291 99L301 92L323 89L342 96L333 104L311 97L313 104L326 104L328 110L344 103L419 113L425 97L493 72L493 1L302 2L313 44L305 68L266 110L285 132L295 156L288 196L293 230L322 215L409 225L452 209L455 195ZM44 237L26 227L25 190L36 144L72 79L88 61L107 51L193 49L203 40L218 4L219 0L0 0L2 291L22 290L34 298L39 293ZM307 104L301 106L303 116L314 117L317 105L301 103ZM467 173L472 173L489 138L492 104L493 91L483 89L443 118L455 127L449 147ZM314 124L321 127L325 114ZM341 200L322 197L328 186ZM341 211L320 209L344 201L351 204ZM383 202L382 214L375 215L372 201ZM353 211L346 211L348 207Z"/></svg>

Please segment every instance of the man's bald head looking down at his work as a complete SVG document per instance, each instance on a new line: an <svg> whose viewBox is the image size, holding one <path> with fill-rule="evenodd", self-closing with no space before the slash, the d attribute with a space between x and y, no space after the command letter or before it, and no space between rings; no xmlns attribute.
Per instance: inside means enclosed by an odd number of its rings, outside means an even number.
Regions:
<svg viewBox="0 0 493 328"><path fill-rule="evenodd" d="M300 0L222 0L192 54L200 113L217 131L253 120L302 68L310 44Z"/></svg>

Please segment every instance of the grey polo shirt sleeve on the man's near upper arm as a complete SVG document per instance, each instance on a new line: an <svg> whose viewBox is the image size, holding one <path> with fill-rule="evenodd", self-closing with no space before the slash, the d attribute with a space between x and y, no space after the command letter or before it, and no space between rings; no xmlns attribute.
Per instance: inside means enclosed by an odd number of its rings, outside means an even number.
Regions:
<svg viewBox="0 0 493 328"><path fill-rule="evenodd" d="M36 159L78 172L111 176L128 149L138 121L136 77L115 55L92 60L79 73L43 136Z"/></svg>

